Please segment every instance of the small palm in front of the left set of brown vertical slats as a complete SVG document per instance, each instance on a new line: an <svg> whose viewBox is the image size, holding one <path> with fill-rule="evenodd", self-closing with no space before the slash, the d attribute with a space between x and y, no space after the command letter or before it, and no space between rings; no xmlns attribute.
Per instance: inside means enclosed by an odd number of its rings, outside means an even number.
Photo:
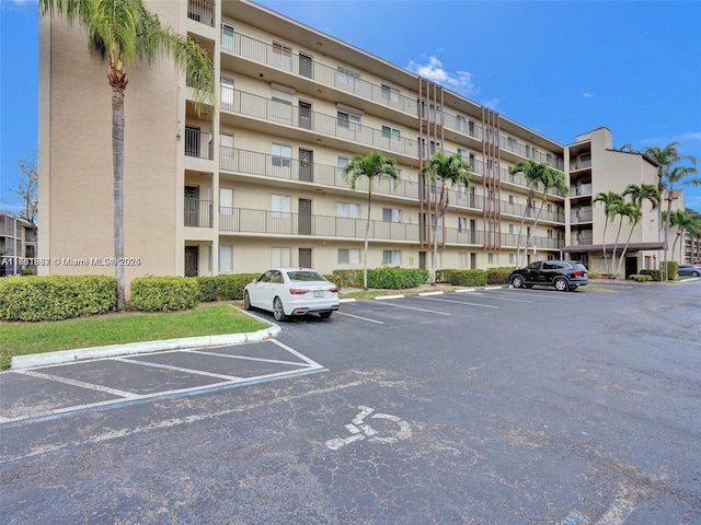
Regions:
<svg viewBox="0 0 701 525"><path fill-rule="evenodd" d="M438 256L438 224L443 224L443 218L448 210L448 191L446 188L452 188L457 185L464 186L466 190L470 188L470 164L460 153L446 155L443 151L437 151L422 168L420 176L423 180L429 179L432 187L440 184L440 191L435 191L435 210L436 219L433 224L433 252L430 258L430 278L432 285L436 284L436 260Z"/></svg>

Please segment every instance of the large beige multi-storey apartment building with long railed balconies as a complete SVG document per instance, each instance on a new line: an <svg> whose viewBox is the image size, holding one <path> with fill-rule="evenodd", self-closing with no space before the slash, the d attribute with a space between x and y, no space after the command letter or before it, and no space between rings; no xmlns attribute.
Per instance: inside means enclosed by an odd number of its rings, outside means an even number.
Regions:
<svg viewBox="0 0 701 525"><path fill-rule="evenodd" d="M397 159L401 179L374 187L370 268L427 268L434 237L440 268L516 266L526 211L521 245L532 236L529 259L559 258L570 248L572 257L596 261L601 218L593 192L618 188L624 178L646 180L651 173L656 180L648 160L628 154L629 163L609 151L605 128L561 145L250 1L149 3L207 50L219 86L217 107L198 114L194 91L170 62L129 69L127 280L275 265L322 272L361 268L367 188L352 190L343 168L354 154L371 150ZM39 255L57 261L39 270L111 273L90 262L113 254L104 66L87 52L85 37L60 20L42 20L39 34ZM437 188L418 177L437 150L460 153L472 166L470 187L450 189L443 221L432 208ZM573 197L548 195L537 229L543 194L536 190L535 208L527 210L526 180L509 174L525 159L549 162L573 189ZM611 170L616 183L604 180ZM648 248L630 250L641 267L653 264L642 255Z"/></svg>

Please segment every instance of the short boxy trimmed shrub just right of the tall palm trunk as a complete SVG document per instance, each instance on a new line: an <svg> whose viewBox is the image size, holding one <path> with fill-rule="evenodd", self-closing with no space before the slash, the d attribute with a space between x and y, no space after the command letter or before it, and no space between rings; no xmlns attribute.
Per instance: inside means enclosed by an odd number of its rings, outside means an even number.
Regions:
<svg viewBox="0 0 701 525"><path fill-rule="evenodd" d="M192 277L139 277L131 281L130 306L141 312L175 312L197 304Z"/></svg>

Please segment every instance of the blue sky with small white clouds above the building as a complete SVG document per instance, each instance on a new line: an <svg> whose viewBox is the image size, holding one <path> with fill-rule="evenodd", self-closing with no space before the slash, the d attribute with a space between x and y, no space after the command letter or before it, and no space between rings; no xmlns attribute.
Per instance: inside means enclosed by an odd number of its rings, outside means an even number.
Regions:
<svg viewBox="0 0 701 525"><path fill-rule="evenodd" d="M562 144L606 126L617 148L678 141L701 161L701 1L258 3ZM0 0L0 206L10 211L18 162L37 147L37 47L36 1ZM701 187L685 195L701 212Z"/></svg>

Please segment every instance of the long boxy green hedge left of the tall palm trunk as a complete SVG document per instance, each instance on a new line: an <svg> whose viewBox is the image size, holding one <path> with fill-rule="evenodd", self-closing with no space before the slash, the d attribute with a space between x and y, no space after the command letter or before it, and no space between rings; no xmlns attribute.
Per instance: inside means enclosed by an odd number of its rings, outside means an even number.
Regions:
<svg viewBox="0 0 701 525"><path fill-rule="evenodd" d="M32 276L0 279L0 319L60 320L116 308L108 276Z"/></svg>

